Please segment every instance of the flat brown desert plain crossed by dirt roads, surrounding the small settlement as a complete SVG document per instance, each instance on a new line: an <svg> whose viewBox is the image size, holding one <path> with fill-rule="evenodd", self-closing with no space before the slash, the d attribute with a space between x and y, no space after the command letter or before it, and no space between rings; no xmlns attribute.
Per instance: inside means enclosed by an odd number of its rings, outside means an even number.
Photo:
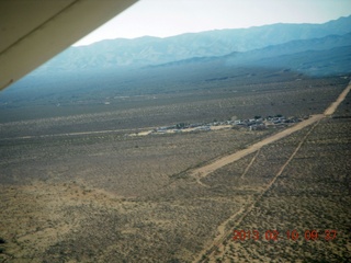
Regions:
<svg viewBox="0 0 351 263"><path fill-rule="evenodd" d="M282 73L1 123L0 261L349 261L351 95L338 100L349 81ZM301 122L149 133L256 115Z"/></svg>

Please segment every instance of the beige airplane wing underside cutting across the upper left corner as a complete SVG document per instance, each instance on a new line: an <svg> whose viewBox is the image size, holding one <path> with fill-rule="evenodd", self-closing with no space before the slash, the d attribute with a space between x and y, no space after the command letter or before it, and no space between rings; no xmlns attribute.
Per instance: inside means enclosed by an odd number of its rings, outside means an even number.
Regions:
<svg viewBox="0 0 351 263"><path fill-rule="evenodd" d="M137 0L0 0L0 90Z"/></svg>

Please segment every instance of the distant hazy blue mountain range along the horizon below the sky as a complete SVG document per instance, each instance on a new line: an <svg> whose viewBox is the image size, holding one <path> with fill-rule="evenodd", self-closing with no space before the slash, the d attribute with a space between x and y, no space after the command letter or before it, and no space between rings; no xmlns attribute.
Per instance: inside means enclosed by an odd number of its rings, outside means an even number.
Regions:
<svg viewBox="0 0 351 263"><path fill-rule="evenodd" d="M242 30L220 30L189 33L159 38L145 36L135 39L102 41L89 46L70 47L43 65L36 72L73 71L79 69L103 69L123 66L147 66L167 64L193 57L225 56L269 48L286 48L296 52L330 49L346 46L351 32L351 15L324 24L272 24ZM339 37L340 36L340 37ZM349 38L348 38L349 37ZM310 41L305 44L296 41ZM319 39L319 41L318 41ZM292 43L295 42L295 43ZM322 42L322 43L319 43ZM285 47L284 45L285 44ZM308 45L312 45L308 47ZM249 53L248 53L249 54ZM281 52L281 55L291 52ZM252 54L250 55L252 56Z"/></svg>

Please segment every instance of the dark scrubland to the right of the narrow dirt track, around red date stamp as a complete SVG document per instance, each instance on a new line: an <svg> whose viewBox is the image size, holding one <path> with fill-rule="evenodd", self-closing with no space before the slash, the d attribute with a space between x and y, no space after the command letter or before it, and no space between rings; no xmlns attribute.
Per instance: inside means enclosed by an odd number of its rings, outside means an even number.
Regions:
<svg viewBox="0 0 351 263"><path fill-rule="evenodd" d="M320 123L283 174L236 227L257 229L262 236L276 229L280 239L229 241L220 260L344 262L351 259L348 227L351 140L347 132L350 127L346 121ZM299 232L298 240L287 240L286 231L294 229ZM305 231L314 229L319 233L318 240L307 241ZM326 241L326 230L337 230L337 238Z"/></svg>

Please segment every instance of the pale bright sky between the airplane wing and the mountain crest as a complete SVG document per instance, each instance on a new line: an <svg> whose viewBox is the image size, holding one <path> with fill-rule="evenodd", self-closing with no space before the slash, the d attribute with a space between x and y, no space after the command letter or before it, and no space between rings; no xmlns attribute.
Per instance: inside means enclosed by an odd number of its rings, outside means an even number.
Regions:
<svg viewBox="0 0 351 263"><path fill-rule="evenodd" d="M139 0L75 46L280 22L324 23L350 14L351 0Z"/></svg>

